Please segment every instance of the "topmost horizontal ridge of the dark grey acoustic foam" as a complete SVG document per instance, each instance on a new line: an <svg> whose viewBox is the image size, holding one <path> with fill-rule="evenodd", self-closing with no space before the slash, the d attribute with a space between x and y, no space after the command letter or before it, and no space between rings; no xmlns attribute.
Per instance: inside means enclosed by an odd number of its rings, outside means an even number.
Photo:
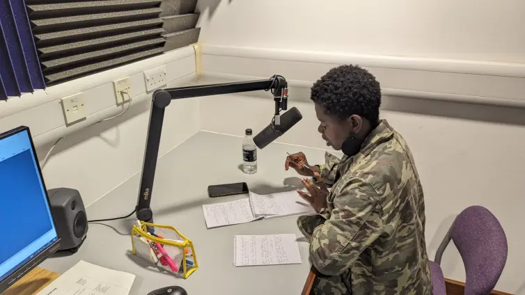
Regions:
<svg viewBox="0 0 525 295"><path fill-rule="evenodd" d="M33 19L41 19L60 17L63 15L84 15L151 8L153 6L159 6L161 1L162 0L64 1L63 3L29 4L27 10L29 10ZM26 2L29 3L30 1ZM37 1L33 1L33 3L37 3Z"/></svg>

